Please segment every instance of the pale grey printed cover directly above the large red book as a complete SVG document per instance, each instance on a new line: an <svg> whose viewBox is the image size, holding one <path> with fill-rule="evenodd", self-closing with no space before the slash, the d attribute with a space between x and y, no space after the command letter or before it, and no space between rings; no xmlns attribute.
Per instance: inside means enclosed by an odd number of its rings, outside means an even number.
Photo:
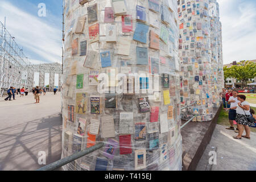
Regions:
<svg viewBox="0 0 256 182"><path fill-rule="evenodd" d="M119 134L133 134L133 113L120 113Z"/></svg>

